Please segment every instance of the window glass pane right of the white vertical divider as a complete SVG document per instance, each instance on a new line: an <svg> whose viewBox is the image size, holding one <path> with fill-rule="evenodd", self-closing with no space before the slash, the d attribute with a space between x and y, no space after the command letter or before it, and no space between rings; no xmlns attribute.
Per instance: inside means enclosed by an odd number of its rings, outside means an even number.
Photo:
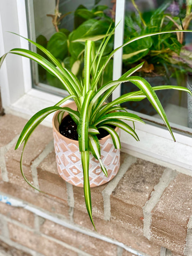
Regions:
<svg viewBox="0 0 192 256"><path fill-rule="evenodd" d="M159 30L191 29L191 17L191 6L186 7L183 0L126 0L124 41ZM145 78L152 86L191 86L191 49L190 33L167 33L141 39L124 47L123 72L144 61L141 70L134 75ZM131 83L121 86L121 94L134 90L137 88ZM161 90L157 95L170 122L192 128L192 113L188 117L192 103L187 104L186 92ZM123 106L158 118L147 99Z"/></svg>

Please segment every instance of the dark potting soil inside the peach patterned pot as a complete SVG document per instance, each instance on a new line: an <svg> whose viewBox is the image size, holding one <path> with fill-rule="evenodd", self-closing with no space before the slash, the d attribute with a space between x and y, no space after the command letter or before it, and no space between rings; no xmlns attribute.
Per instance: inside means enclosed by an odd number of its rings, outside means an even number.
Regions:
<svg viewBox="0 0 192 256"><path fill-rule="evenodd" d="M108 126L115 129L114 125L108 124ZM102 138L106 137L107 135L109 135L109 132L107 132L106 130L104 130L102 128L99 128L98 130L100 132L100 134L97 134L98 139L102 139ZM67 115L66 117L63 118L61 125L59 127L59 132L63 136L67 137L68 139L78 140L77 125L73 121L73 119L71 118L70 115Z"/></svg>

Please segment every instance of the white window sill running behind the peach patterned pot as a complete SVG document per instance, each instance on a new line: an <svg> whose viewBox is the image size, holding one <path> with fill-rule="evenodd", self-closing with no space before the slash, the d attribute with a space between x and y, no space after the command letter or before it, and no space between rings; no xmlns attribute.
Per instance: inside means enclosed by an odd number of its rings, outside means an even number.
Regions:
<svg viewBox="0 0 192 256"><path fill-rule="evenodd" d="M59 96L31 89L10 107L6 107L5 113L29 119L40 109L52 106L60 100ZM42 124L51 127L52 117L53 114L46 117ZM135 127L140 141L136 142L126 132L121 131L122 151L142 159L158 161L165 167L177 167L179 172L192 175L192 137L175 132L174 142L166 129L140 123L136 123Z"/></svg>

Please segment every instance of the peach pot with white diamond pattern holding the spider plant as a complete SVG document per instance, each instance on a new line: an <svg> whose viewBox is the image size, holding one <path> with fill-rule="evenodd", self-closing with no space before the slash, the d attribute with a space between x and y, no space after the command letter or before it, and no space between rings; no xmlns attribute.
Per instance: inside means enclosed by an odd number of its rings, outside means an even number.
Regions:
<svg viewBox="0 0 192 256"><path fill-rule="evenodd" d="M64 106L76 110L76 104L71 102ZM68 113L63 114L63 118ZM59 124L57 120L58 112L53 117L53 137L56 152L56 162L59 175L78 187L83 187L83 170L81 164L81 152L79 152L78 141L68 139L59 132ZM119 128L116 127L119 134ZM103 161L108 177L104 175L99 165L99 161L90 155L89 162L89 181L91 187L103 185L112 180L119 170L120 150L116 150L112 142L111 136L108 135L99 140L101 146L101 160Z"/></svg>

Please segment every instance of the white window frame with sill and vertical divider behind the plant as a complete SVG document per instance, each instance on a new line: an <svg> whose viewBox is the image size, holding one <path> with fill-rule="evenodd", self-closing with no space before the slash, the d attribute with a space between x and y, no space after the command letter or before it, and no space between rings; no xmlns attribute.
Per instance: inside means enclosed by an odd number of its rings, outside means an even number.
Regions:
<svg viewBox="0 0 192 256"><path fill-rule="evenodd" d="M122 28L125 0L117 0L116 23ZM9 18L5 13L9 13ZM120 31L121 29L119 29ZM0 1L0 56L12 48L28 48L28 42L6 31L12 31L28 37L25 13L25 0ZM116 46L122 36L116 31ZM119 55L118 55L119 54ZM121 51L114 56L114 62L121 66ZM120 70L120 68L119 68ZM114 72L114 79L120 76ZM29 118L38 110L56 104L61 97L32 88L30 61L20 56L9 55L0 69L0 89L2 103L6 113ZM115 92L115 96L119 94ZM114 96L113 96L114 97ZM51 126L51 117L44 124ZM174 132L177 142L173 142L169 132L152 124L136 124L140 142L121 132L122 151L136 157L172 167L180 172L192 175L192 137Z"/></svg>

